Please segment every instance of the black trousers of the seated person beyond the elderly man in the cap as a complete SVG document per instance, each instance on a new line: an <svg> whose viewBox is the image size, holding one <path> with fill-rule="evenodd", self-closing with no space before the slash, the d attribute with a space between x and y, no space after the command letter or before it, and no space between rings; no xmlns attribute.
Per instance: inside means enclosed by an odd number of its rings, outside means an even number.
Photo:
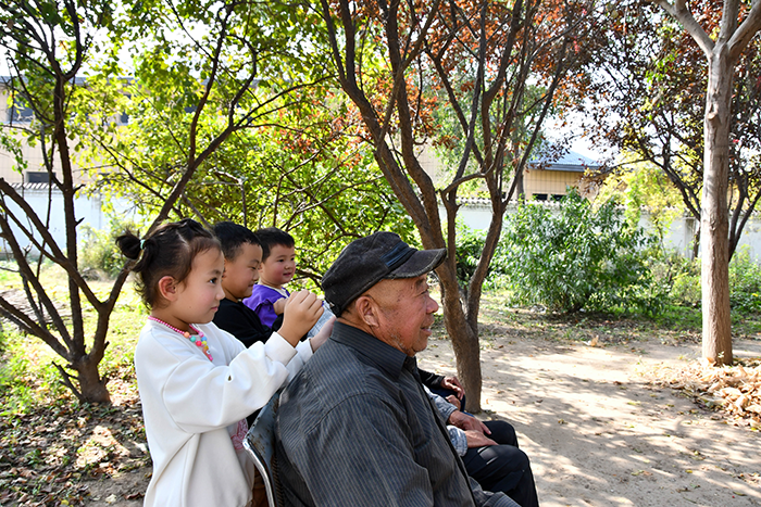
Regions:
<svg viewBox="0 0 761 507"><path fill-rule="evenodd" d="M467 473L490 492L501 491L521 507L537 507L534 474L526 453L517 448L515 429L506 421L485 421L499 445L469 448L462 457Z"/></svg>

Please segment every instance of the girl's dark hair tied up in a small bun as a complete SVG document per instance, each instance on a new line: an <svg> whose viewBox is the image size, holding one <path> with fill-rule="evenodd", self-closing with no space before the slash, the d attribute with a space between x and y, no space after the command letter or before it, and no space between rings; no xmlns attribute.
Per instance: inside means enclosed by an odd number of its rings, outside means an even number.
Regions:
<svg viewBox="0 0 761 507"><path fill-rule="evenodd" d="M133 271L139 275L137 291L149 308L161 303L159 280L170 276L182 283L190 274L196 255L211 249L222 250L214 235L191 218L162 224L144 239L126 231L116 238L116 244L125 257L139 258Z"/></svg>

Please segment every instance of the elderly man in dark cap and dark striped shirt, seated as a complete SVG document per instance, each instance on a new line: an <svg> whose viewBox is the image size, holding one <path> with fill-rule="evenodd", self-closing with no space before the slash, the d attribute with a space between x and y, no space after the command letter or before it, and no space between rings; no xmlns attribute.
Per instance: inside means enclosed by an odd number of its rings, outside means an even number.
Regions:
<svg viewBox="0 0 761 507"><path fill-rule="evenodd" d="M323 277L338 320L280 397L287 505L517 506L467 476L417 373L438 309L427 274L445 255L377 232L349 244Z"/></svg>

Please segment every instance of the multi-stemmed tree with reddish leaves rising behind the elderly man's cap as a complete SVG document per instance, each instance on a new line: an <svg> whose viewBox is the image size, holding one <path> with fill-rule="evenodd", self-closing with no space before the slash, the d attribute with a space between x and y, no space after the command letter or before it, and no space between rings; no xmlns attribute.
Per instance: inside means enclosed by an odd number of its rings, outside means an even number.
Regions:
<svg viewBox="0 0 761 507"><path fill-rule="evenodd" d="M423 4L322 0L332 65L359 110L364 138L426 249L447 248L437 268L458 375L481 409L478 309L506 206L529 160L554 93L575 63L590 5L584 2ZM526 104L529 84L542 93ZM450 179L423 170L421 147L437 136L433 111L457 118L462 156ZM525 128L528 136L514 136ZM458 191L478 181L492 219L477 268L458 286ZM438 186L437 186L438 185ZM438 199L446 210L442 224Z"/></svg>

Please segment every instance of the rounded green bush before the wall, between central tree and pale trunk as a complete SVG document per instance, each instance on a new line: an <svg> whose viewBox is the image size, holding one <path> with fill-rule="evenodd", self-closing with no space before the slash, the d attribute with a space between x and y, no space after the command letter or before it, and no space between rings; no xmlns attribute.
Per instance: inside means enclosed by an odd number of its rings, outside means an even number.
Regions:
<svg viewBox="0 0 761 507"><path fill-rule="evenodd" d="M520 304L562 313L659 309L646 261L652 240L624 219L614 201L595 210L571 192L557 213L523 205L508 221L502 242L510 289Z"/></svg>

